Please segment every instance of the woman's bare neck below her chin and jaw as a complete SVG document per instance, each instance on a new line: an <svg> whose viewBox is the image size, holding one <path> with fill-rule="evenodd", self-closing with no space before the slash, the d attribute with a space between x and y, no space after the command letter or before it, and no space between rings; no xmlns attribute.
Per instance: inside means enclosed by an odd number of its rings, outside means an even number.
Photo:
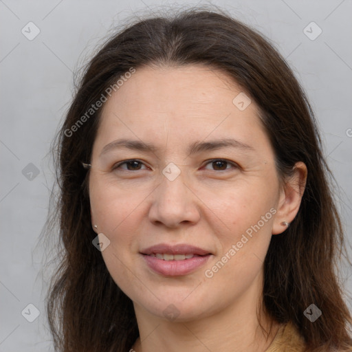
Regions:
<svg viewBox="0 0 352 352"><path fill-rule="evenodd" d="M257 288L249 289L216 314L184 322L170 322L134 303L140 338L132 349L135 352L263 352L270 346L279 325L263 309L260 320L257 317L257 307L261 307ZM269 332L268 336L261 326Z"/></svg>

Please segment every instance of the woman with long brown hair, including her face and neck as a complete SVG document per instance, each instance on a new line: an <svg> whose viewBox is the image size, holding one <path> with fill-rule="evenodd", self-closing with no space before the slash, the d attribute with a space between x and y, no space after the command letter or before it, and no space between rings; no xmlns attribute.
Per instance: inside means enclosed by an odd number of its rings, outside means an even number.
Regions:
<svg viewBox="0 0 352 352"><path fill-rule="evenodd" d="M219 10L129 25L57 146L58 351L352 351L314 115L260 34Z"/></svg>

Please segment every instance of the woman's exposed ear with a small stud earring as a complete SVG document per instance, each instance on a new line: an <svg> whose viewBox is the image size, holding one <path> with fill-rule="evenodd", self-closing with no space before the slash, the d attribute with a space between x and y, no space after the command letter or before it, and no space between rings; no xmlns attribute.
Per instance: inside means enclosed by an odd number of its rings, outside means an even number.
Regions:
<svg viewBox="0 0 352 352"><path fill-rule="evenodd" d="M297 162L294 166L293 175L285 181L278 200L272 234L281 234L287 229L283 221L292 223L302 201L305 185L307 182L307 166L304 162Z"/></svg>

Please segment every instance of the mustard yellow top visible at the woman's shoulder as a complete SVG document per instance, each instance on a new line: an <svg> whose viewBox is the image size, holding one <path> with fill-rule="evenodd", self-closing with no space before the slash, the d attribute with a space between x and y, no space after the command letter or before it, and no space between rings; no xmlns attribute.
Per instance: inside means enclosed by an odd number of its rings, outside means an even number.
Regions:
<svg viewBox="0 0 352 352"><path fill-rule="evenodd" d="M265 352L302 352L305 350L305 340L292 324L282 325L269 348Z"/></svg>

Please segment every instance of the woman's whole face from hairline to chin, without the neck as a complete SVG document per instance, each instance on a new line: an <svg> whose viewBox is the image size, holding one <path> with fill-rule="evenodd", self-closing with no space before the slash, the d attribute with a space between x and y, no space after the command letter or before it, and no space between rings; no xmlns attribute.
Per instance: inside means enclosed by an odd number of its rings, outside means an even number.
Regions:
<svg viewBox="0 0 352 352"><path fill-rule="evenodd" d="M102 256L135 308L185 321L259 297L285 192L258 108L228 76L137 69L104 104L91 164Z"/></svg>

